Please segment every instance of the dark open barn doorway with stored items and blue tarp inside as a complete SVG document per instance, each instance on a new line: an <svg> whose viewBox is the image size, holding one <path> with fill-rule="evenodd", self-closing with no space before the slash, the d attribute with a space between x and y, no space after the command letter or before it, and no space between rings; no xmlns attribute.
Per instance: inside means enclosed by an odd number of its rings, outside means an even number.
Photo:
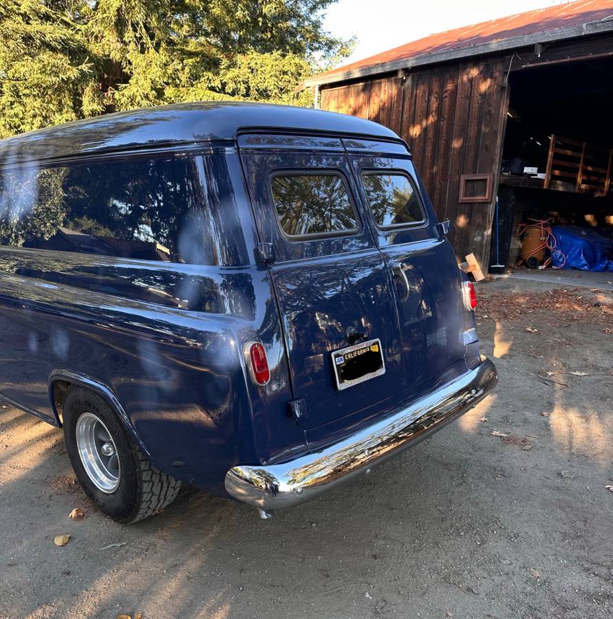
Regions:
<svg viewBox="0 0 613 619"><path fill-rule="evenodd" d="M509 85L491 265L613 271L613 56Z"/></svg>

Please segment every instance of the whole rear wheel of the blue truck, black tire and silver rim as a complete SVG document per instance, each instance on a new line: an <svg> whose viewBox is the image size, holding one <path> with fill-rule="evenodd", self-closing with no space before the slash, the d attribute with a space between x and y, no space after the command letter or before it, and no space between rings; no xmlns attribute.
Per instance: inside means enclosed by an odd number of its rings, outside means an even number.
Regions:
<svg viewBox="0 0 613 619"><path fill-rule="evenodd" d="M97 393L69 389L63 406L68 457L85 494L112 519L132 523L164 509L181 482L147 461Z"/></svg>

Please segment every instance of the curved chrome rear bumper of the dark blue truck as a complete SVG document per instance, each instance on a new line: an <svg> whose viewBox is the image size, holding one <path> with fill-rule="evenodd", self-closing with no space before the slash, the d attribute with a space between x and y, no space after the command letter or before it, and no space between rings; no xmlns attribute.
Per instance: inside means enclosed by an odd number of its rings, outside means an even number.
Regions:
<svg viewBox="0 0 613 619"><path fill-rule="evenodd" d="M283 464L235 466L226 473L226 490L264 512L312 499L369 470L480 402L498 380L493 363L480 366L425 395L406 408L316 453Z"/></svg>

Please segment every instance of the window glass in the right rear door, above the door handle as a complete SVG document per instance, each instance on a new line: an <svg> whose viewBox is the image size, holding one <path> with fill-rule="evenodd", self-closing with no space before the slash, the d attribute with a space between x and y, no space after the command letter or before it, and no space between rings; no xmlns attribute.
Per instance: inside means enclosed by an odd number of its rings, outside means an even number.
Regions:
<svg viewBox="0 0 613 619"><path fill-rule="evenodd" d="M379 228L425 221L418 194L405 174L367 172L362 175L362 184Z"/></svg>

